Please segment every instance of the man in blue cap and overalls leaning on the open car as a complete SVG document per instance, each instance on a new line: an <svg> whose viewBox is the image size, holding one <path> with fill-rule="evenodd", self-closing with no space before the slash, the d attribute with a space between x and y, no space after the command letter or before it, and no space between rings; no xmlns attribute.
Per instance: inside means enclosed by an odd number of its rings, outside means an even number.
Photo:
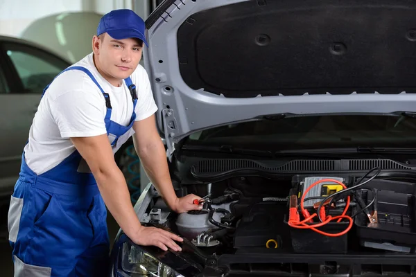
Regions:
<svg viewBox="0 0 416 277"><path fill-rule="evenodd" d="M130 136L150 181L176 213L178 198L155 124L157 106L139 65L145 25L132 10L101 18L92 53L62 71L42 94L24 147L8 214L15 276L106 276L106 207L136 244L181 251L182 238L141 226L114 152ZM175 242L176 241L176 242Z"/></svg>

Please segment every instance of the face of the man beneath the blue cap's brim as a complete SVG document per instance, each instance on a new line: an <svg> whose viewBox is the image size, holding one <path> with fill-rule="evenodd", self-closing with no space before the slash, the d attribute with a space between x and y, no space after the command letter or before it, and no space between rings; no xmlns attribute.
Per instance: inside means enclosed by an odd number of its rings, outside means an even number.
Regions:
<svg viewBox="0 0 416 277"><path fill-rule="evenodd" d="M141 59L143 43L139 39L113 39L105 33L98 39L98 60L101 70L114 79L125 79L137 68Z"/></svg>

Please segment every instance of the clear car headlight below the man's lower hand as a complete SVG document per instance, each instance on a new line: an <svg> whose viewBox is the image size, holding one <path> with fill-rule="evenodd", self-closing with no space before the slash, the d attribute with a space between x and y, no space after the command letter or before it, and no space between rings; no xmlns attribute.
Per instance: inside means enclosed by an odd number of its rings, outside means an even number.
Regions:
<svg viewBox="0 0 416 277"><path fill-rule="evenodd" d="M130 276L184 277L131 242L123 244L121 267Z"/></svg>

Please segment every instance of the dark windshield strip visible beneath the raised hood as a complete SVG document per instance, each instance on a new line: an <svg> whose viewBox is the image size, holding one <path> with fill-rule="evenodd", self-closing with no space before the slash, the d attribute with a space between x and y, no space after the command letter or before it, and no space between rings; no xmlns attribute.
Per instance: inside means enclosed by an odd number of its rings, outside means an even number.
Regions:
<svg viewBox="0 0 416 277"><path fill-rule="evenodd" d="M415 147L416 119L391 115L326 115L256 120L191 134L185 143L274 150Z"/></svg>

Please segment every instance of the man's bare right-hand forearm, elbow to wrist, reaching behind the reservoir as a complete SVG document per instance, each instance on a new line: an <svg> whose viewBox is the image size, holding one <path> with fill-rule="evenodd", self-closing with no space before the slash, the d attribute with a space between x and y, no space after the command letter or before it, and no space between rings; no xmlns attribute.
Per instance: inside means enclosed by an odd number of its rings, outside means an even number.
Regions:
<svg viewBox="0 0 416 277"><path fill-rule="evenodd" d="M177 197L172 186L171 176L169 175L166 152L162 140L156 139L152 143L141 147L135 142L135 150L140 157L146 174L157 188L159 195L174 210Z"/></svg>

